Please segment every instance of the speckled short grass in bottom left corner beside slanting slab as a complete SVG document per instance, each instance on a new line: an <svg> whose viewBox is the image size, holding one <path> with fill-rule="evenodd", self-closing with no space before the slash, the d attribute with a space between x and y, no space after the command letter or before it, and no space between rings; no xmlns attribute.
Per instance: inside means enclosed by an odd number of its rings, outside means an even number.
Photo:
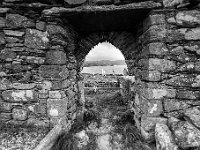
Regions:
<svg viewBox="0 0 200 150"><path fill-rule="evenodd" d="M48 132L48 128L1 124L0 150L33 150Z"/></svg>

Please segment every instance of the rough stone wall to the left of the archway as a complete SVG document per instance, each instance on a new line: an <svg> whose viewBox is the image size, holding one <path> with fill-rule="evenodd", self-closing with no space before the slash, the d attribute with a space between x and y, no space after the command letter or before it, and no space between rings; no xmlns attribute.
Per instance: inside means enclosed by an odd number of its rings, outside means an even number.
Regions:
<svg viewBox="0 0 200 150"><path fill-rule="evenodd" d="M73 30L57 17L21 11L0 8L0 120L68 124L78 100Z"/></svg>

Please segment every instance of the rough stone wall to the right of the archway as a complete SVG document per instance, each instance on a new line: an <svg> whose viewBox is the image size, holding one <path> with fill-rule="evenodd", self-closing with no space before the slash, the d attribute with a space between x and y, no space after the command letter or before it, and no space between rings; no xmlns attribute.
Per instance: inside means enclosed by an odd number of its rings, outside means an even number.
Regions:
<svg viewBox="0 0 200 150"><path fill-rule="evenodd" d="M199 16L197 9L152 11L138 34L135 120L158 149L200 146Z"/></svg>

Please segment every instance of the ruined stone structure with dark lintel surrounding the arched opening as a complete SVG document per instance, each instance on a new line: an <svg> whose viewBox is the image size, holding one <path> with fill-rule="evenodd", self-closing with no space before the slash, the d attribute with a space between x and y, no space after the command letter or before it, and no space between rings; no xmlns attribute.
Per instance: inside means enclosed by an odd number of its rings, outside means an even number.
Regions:
<svg viewBox="0 0 200 150"><path fill-rule="evenodd" d="M2 0L1 122L70 128L85 56L108 41L136 78L130 102L145 139L155 136L159 148L200 146L199 3Z"/></svg>

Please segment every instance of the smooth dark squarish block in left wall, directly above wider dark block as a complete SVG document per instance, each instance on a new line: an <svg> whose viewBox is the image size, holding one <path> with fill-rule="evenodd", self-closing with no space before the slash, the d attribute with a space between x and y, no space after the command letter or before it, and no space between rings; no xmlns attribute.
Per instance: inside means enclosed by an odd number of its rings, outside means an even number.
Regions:
<svg viewBox="0 0 200 150"><path fill-rule="evenodd" d="M45 63L50 65L64 65L67 62L66 53L59 50L50 50L46 53Z"/></svg>

